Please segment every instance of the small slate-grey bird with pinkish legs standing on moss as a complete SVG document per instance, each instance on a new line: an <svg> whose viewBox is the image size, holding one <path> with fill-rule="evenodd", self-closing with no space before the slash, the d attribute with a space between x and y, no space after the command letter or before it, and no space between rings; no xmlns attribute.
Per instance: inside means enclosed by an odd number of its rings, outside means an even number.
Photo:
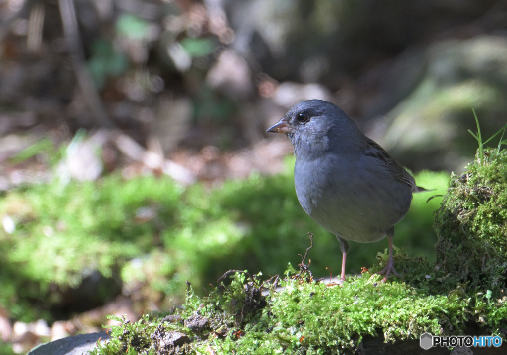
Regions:
<svg viewBox="0 0 507 355"><path fill-rule="evenodd" d="M394 268L394 225L405 217L414 192L425 191L414 177L359 130L335 104L296 104L268 132L285 133L294 146L294 182L301 207L340 242L345 281L348 241L374 242L387 236L389 258L378 274L401 277Z"/></svg>

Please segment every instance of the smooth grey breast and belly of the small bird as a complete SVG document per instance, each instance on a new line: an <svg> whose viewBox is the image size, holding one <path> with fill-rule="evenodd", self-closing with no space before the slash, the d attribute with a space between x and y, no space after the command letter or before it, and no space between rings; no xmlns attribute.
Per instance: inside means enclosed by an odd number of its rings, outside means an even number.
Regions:
<svg viewBox="0 0 507 355"><path fill-rule="evenodd" d="M386 181L375 169L337 156L296 160L296 194L305 212L330 232L347 240L381 239L410 207L411 192ZM402 191L403 190L403 191ZM405 191L407 190L407 191Z"/></svg>

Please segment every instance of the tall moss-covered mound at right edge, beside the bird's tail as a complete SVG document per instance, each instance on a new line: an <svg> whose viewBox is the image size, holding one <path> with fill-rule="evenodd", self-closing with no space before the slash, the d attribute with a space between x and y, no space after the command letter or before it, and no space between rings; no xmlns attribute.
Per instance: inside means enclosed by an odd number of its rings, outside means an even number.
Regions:
<svg viewBox="0 0 507 355"><path fill-rule="evenodd" d="M486 150L452 175L436 215L437 268L453 283L504 296L507 270L507 151Z"/></svg>

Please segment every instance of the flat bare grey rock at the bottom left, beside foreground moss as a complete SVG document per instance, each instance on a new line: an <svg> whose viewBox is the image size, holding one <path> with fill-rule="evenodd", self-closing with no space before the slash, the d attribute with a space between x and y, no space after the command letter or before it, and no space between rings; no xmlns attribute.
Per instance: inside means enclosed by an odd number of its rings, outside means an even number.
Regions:
<svg viewBox="0 0 507 355"><path fill-rule="evenodd" d="M99 339L104 343L109 336L106 332L75 335L39 345L27 355L81 355L95 348Z"/></svg>

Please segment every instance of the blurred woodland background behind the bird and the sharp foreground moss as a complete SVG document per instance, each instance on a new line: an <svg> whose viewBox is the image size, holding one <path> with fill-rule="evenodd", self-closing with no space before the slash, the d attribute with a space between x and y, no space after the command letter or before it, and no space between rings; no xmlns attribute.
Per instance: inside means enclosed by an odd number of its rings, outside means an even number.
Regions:
<svg viewBox="0 0 507 355"><path fill-rule="evenodd" d="M283 274L307 232L337 274L265 132L311 98L434 189L394 237L433 262L426 201L474 159L472 109L483 137L506 122L507 1L0 0L0 352ZM386 246L351 243L347 272Z"/></svg>

